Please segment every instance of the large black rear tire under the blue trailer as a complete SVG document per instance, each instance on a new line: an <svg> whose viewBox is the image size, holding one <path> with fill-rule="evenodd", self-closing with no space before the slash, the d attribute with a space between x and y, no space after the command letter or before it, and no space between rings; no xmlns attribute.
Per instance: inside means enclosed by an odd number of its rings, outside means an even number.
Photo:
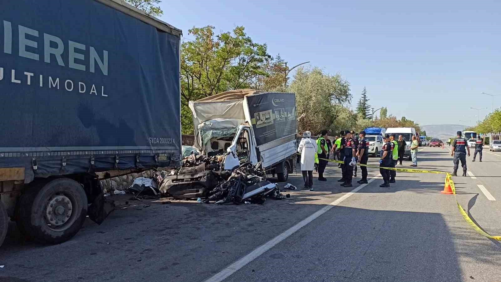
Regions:
<svg viewBox="0 0 501 282"><path fill-rule="evenodd" d="M80 230L87 216L87 195L69 178L48 182L21 195L16 216L19 230L41 243L59 244Z"/></svg>

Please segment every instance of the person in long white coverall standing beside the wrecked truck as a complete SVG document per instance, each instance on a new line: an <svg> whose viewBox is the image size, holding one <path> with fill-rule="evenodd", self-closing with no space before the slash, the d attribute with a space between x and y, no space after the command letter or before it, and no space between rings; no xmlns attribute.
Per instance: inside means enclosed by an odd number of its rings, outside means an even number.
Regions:
<svg viewBox="0 0 501 282"><path fill-rule="evenodd" d="M315 164L315 154L317 153L317 143L311 138L312 133L305 131L303 139L299 143L298 153L301 154L301 172L305 181L305 189L313 191L313 168Z"/></svg>

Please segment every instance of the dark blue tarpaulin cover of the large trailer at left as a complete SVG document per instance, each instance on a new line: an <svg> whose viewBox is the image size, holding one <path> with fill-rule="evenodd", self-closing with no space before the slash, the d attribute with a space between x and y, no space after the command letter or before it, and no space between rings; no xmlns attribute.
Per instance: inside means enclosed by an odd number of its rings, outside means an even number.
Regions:
<svg viewBox="0 0 501 282"><path fill-rule="evenodd" d="M0 168L33 178L179 161L179 34L103 3L2 3Z"/></svg>

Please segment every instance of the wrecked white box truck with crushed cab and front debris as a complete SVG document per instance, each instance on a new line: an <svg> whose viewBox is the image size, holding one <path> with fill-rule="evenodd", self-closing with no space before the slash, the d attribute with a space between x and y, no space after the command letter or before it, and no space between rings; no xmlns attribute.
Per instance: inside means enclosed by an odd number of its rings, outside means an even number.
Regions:
<svg viewBox="0 0 501 282"><path fill-rule="evenodd" d="M184 158L181 167L162 180L161 193L241 202L275 189L267 175L287 181L296 163L295 94L240 89L190 101L189 107L193 147L200 155ZM240 193L238 201L228 199L228 191Z"/></svg>

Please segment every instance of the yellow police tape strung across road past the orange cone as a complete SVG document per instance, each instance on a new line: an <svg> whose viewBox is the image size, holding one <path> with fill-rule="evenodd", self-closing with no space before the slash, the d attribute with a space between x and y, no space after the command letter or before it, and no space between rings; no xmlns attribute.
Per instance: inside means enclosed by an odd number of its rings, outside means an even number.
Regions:
<svg viewBox="0 0 501 282"><path fill-rule="evenodd" d="M298 154L299 155L299 154ZM323 161L328 161L328 162L333 162L337 164L344 164L342 161L336 161L336 160L327 160L327 159L319 159ZM464 211L463 207L457 202L456 198L456 188L454 186L454 182L452 181L452 176L448 172L442 172L442 171L427 171L427 170L416 170L416 169L400 169L400 168L386 168L386 167L378 167L378 166L371 166L371 165L364 165L364 164L358 164L359 166L363 167L368 167L368 168L378 168L378 169L385 169L385 170L392 170L392 171L400 171L400 172L410 172L410 173L445 173L445 185L447 185L447 182L450 185L450 189L452 190L452 193L454 194L454 200L456 201L457 208L459 209L459 213L463 216L464 220L471 226L473 229L475 229L476 232L480 233L481 235L489 238L489 239L494 239L497 241L501 241L501 236L492 236L488 234L487 232L483 231L478 225L476 225L473 220L468 216L468 214Z"/></svg>

